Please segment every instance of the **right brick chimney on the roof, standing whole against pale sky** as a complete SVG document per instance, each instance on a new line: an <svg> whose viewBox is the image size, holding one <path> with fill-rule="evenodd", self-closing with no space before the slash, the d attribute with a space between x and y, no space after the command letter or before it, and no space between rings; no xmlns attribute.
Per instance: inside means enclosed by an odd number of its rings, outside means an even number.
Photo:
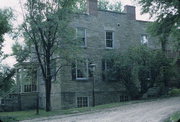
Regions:
<svg viewBox="0 0 180 122"><path fill-rule="evenodd" d="M136 7L126 5L124 6L124 12L127 13L127 17L130 20L136 20Z"/></svg>

